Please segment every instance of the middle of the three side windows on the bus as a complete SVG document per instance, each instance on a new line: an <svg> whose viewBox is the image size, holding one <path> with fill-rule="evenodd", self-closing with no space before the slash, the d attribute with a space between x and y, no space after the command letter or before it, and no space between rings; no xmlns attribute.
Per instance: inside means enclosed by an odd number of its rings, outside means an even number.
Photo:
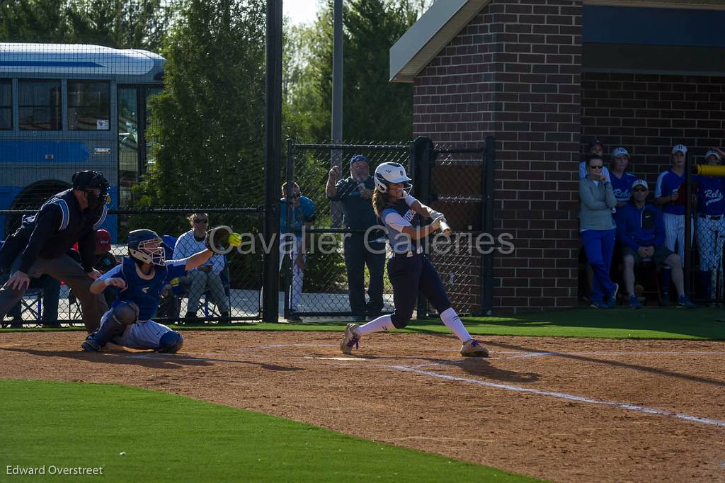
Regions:
<svg viewBox="0 0 725 483"><path fill-rule="evenodd" d="M18 80L20 129L60 131L60 80Z"/></svg>

